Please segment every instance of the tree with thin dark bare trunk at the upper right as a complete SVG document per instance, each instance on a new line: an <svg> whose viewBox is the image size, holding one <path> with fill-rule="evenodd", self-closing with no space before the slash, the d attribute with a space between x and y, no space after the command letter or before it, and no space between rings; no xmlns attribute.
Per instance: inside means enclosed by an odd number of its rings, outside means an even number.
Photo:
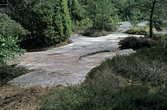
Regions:
<svg viewBox="0 0 167 110"><path fill-rule="evenodd" d="M166 16L166 3L166 0L136 0L135 6L149 15L149 33L151 38L153 37L153 27L156 25L157 19L162 19Z"/></svg>

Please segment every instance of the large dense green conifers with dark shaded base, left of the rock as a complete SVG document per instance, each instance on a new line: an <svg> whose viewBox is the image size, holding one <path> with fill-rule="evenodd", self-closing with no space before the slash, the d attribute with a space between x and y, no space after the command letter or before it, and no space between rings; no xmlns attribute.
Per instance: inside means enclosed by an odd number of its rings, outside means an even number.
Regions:
<svg viewBox="0 0 167 110"><path fill-rule="evenodd" d="M16 10L8 13L31 32L21 44L38 47L58 44L71 35L71 19L67 0L9 0Z"/></svg>

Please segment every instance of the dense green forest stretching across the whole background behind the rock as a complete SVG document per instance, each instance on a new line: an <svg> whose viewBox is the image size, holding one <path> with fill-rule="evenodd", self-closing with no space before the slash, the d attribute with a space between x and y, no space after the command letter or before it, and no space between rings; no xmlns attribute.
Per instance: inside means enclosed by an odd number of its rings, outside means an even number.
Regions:
<svg viewBox="0 0 167 110"><path fill-rule="evenodd" d="M134 26L149 21L160 30L166 20L166 0L1 0L1 59L24 48L45 47L67 40L77 30L116 31L118 22ZM13 41L13 43L9 43ZM13 47L8 52L6 49ZM9 55L10 56L10 55ZM12 55L14 56L14 55Z"/></svg>

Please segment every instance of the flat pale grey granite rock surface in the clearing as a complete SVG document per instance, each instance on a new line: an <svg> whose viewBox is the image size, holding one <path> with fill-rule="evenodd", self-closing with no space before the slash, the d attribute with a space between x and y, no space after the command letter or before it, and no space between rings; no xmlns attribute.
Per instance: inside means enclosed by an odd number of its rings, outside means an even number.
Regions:
<svg viewBox="0 0 167 110"><path fill-rule="evenodd" d="M106 58L134 52L132 49L118 48L120 39L127 36L129 35L115 33L92 38L76 34L71 36L72 44L25 53L17 57L17 66L33 71L8 83L21 87L41 85L43 88L81 84L87 73Z"/></svg>

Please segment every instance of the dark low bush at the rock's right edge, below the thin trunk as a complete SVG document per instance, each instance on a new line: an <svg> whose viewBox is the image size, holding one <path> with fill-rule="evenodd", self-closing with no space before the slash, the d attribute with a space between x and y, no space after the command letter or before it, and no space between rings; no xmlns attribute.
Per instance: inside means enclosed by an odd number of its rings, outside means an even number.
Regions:
<svg viewBox="0 0 167 110"><path fill-rule="evenodd" d="M126 37L125 39L121 40L119 42L119 45L121 49L128 49L132 48L134 50L140 49L143 47L153 47L157 45L157 42L153 39L150 39L148 37Z"/></svg>

